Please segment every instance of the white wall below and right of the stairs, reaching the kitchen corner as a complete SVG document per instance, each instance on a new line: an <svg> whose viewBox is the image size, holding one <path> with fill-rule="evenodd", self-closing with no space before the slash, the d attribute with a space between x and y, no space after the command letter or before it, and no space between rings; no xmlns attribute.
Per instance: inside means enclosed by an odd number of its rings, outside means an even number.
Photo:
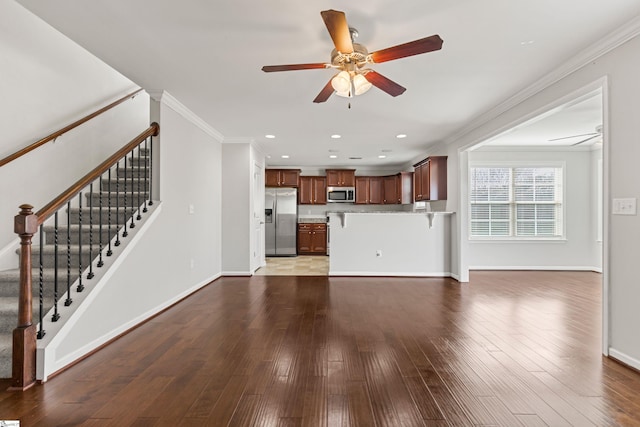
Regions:
<svg viewBox="0 0 640 427"><path fill-rule="evenodd" d="M170 108L166 97L154 143L160 155L159 212L82 312L74 313L48 345L44 378L221 274L221 144Z"/></svg>

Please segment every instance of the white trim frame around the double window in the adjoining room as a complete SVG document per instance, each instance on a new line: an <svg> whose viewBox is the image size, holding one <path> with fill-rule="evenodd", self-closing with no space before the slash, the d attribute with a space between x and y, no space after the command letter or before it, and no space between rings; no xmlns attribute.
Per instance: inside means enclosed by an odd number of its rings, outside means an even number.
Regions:
<svg viewBox="0 0 640 427"><path fill-rule="evenodd" d="M558 236L473 236L471 235L471 211L472 211L472 202L471 202L471 192L473 188L473 174L472 169L474 168L557 168L562 172L561 186L562 186L562 198L560 202L560 214L562 215L560 219L560 224L562 227L562 233ZM566 216L566 205L567 205L567 164L564 160L474 160L469 161L468 164L468 197L467 197L467 209L469 212L468 224L467 224L467 239L470 242L566 242L567 237L567 216ZM513 188L513 181L511 182ZM510 200L507 203L509 206L515 206L514 201ZM549 202L549 204L555 204ZM516 226L515 218L509 219L509 227L513 228Z"/></svg>

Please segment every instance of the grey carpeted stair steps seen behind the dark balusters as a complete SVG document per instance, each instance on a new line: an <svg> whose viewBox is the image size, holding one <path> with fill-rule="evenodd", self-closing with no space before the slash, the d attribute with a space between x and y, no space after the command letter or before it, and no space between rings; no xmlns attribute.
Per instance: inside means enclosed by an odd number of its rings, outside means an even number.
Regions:
<svg viewBox="0 0 640 427"><path fill-rule="evenodd" d="M150 174L148 155L147 149L140 148L135 157L128 155L126 160L123 159L117 166L111 168L110 174L103 174L94 182L92 192L87 188L81 198L76 196L70 202L71 208L59 211L57 233L54 219L50 218L42 227L42 255L40 255L40 233L33 236L33 324L38 324L40 318L41 282L42 316L51 318L51 313L48 312L54 305L56 241L58 242L58 311L61 316L69 316L70 309L75 309L76 303L72 302L69 308L65 307L67 283L70 284L73 298L73 294L77 292L78 278L82 270L82 286L90 287L91 272L97 272L102 265L99 262L100 253L102 253L102 259L105 259L108 256L108 250L111 249L111 256L117 256L116 248L123 239L127 238L127 230L132 224L138 226L138 223L144 219L143 209L147 206L145 200L149 197L149 190L146 188L149 180L145 179L145 174ZM80 200L82 207L78 206ZM111 242L110 246L109 242ZM19 254L19 250L16 253ZM40 259L42 259L42 268L40 268ZM19 257L16 256L16 265L18 263ZM89 268L90 265L91 268ZM0 378L12 376L12 331L18 320L19 283L19 269L0 271Z"/></svg>

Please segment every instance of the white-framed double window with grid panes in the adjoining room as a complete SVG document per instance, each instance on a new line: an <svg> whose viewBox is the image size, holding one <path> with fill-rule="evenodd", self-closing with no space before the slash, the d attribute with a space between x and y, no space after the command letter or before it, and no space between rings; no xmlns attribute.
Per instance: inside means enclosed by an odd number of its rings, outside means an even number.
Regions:
<svg viewBox="0 0 640 427"><path fill-rule="evenodd" d="M472 165L472 238L555 239L562 230L563 165Z"/></svg>

